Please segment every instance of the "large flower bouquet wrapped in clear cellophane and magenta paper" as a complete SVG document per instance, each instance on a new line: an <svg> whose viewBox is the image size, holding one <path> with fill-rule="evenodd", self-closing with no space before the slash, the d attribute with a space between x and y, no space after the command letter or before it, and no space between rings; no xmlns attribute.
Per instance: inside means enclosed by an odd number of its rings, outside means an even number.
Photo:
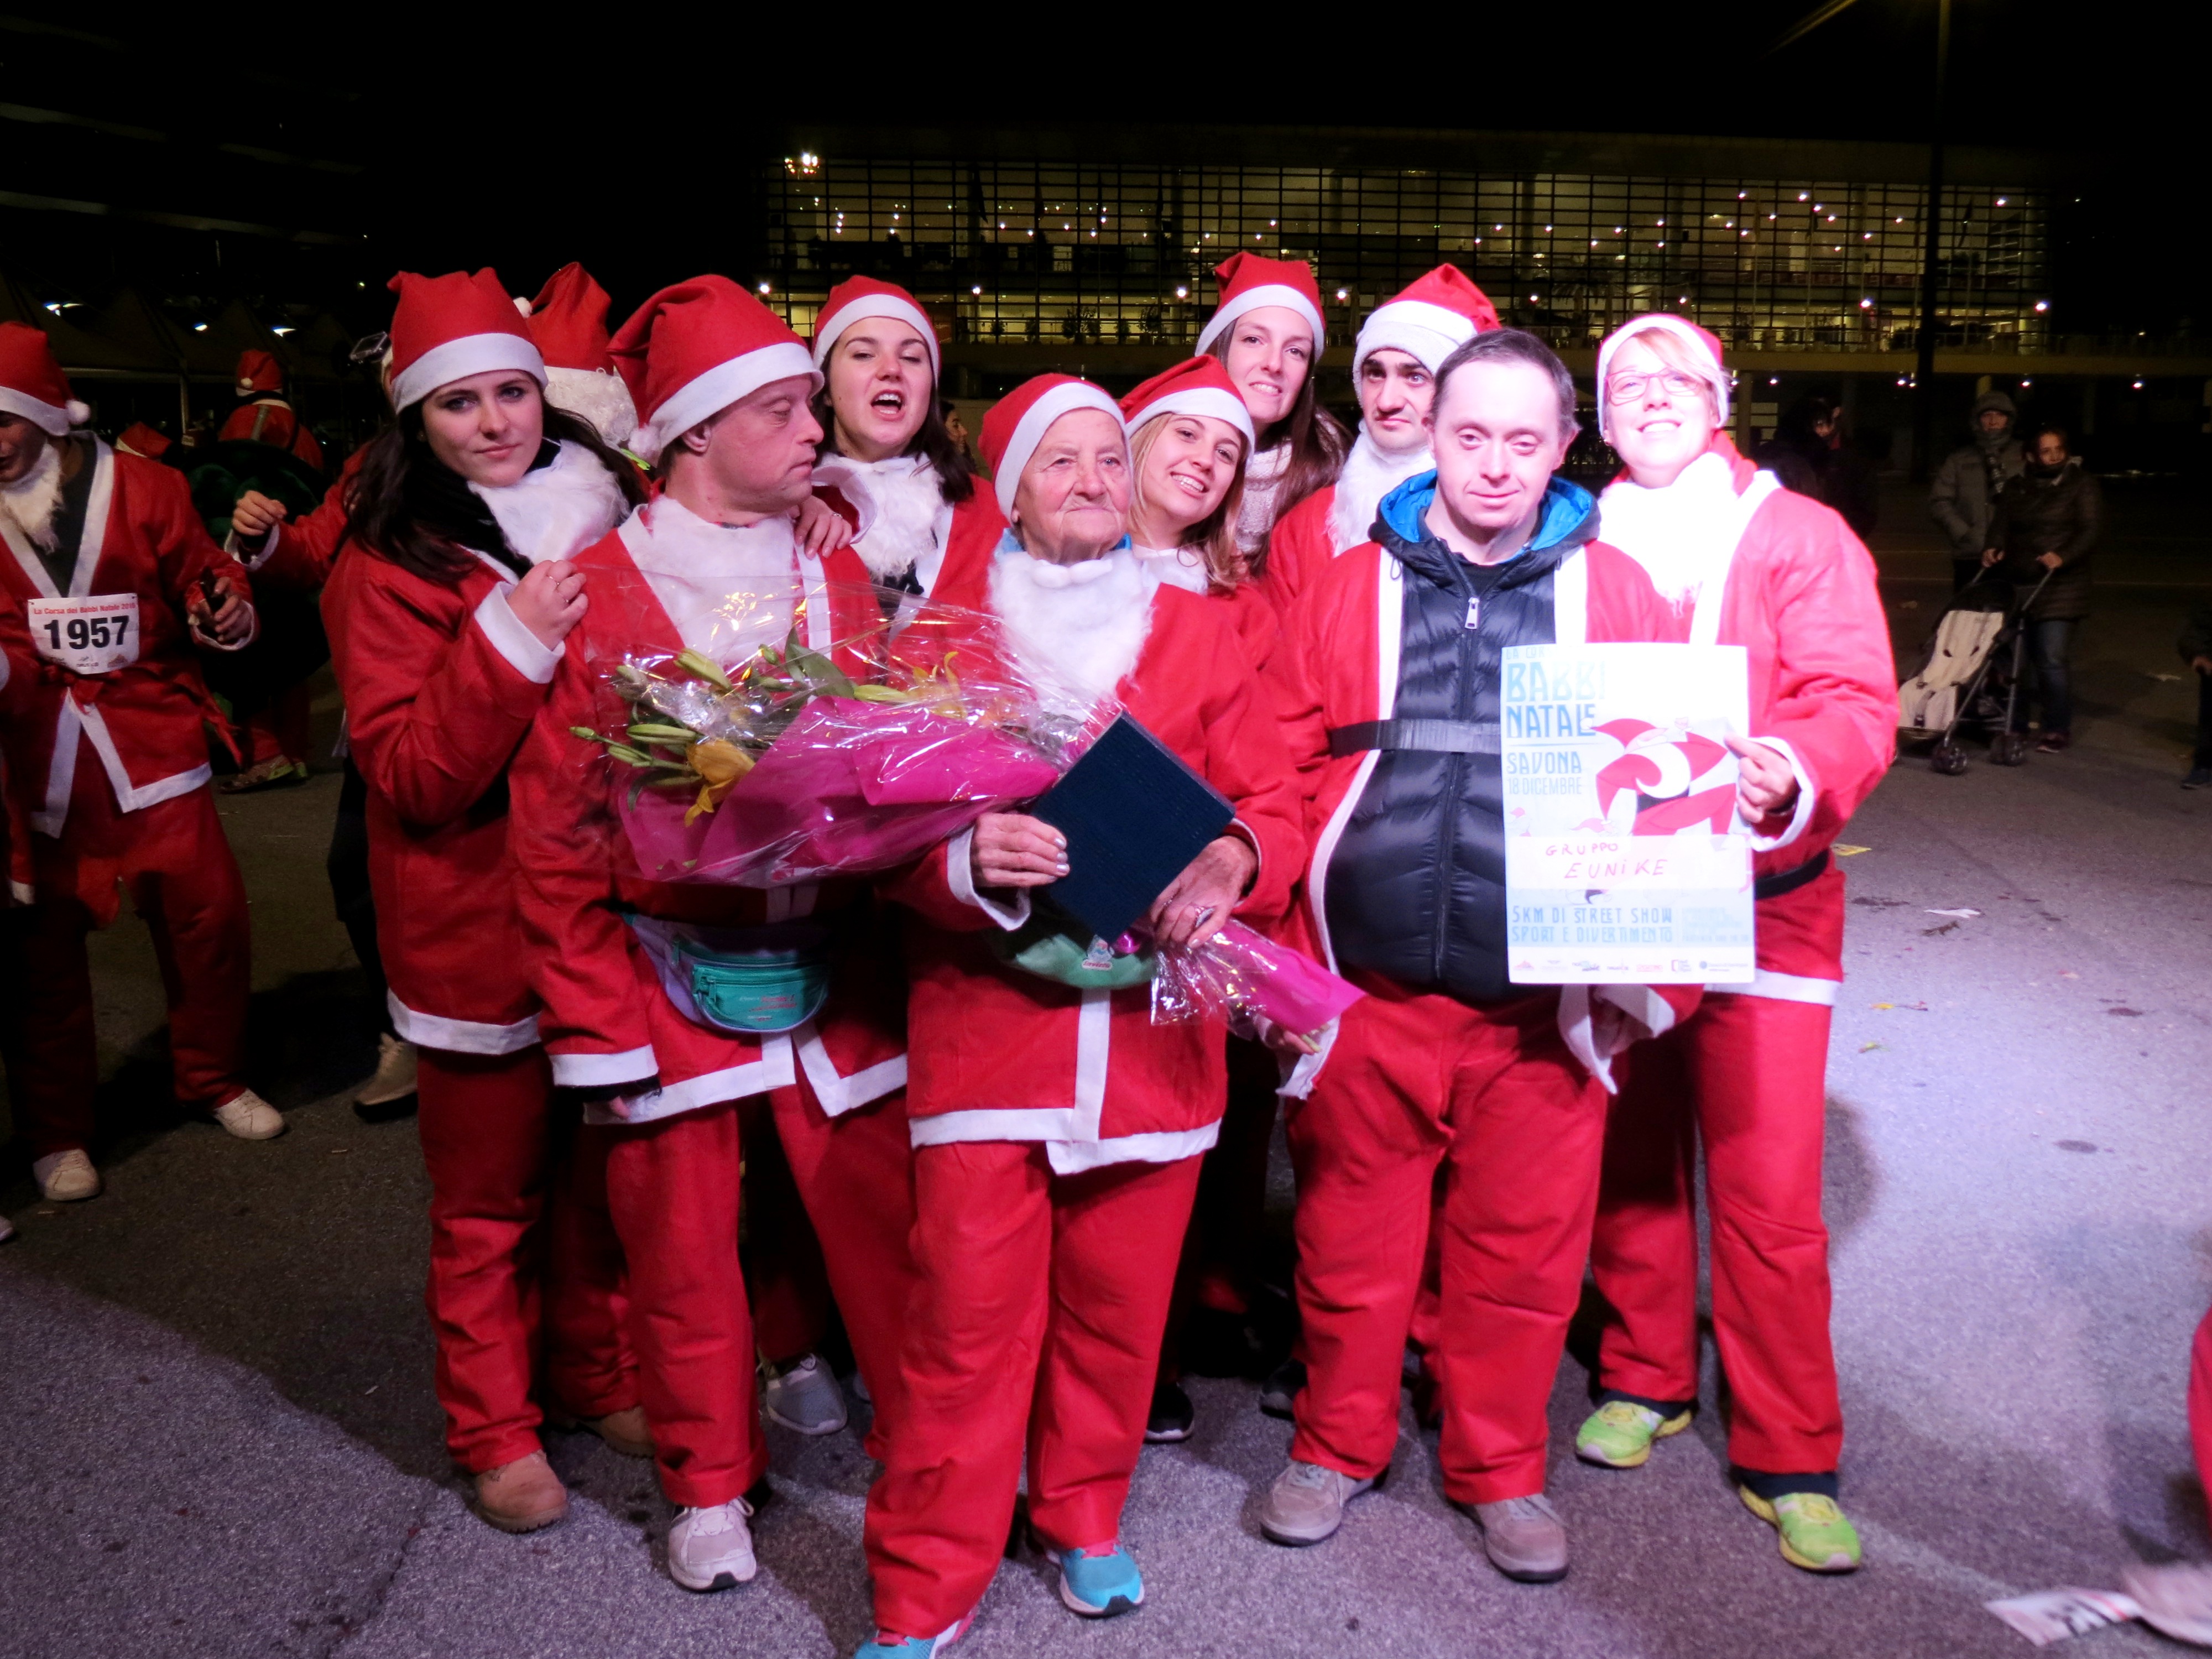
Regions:
<svg viewBox="0 0 2212 1659"><path fill-rule="evenodd" d="M918 595L730 593L692 613L703 635L595 641L597 728L575 728L648 880L891 869L1048 790L1115 714L1018 668L995 617Z"/></svg>

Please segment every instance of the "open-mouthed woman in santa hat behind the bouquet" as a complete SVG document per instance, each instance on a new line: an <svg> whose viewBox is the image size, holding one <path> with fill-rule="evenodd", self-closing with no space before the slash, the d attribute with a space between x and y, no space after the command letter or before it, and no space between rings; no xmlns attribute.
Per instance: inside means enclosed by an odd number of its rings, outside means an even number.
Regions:
<svg viewBox="0 0 2212 1659"><path fill-rule="evenodd" d="M929 593L947 564L987 568L1004 518L945 429L938 334L914 294L874 276L832 288L814 323L814 489L854 524L867 573Z"/></svg>

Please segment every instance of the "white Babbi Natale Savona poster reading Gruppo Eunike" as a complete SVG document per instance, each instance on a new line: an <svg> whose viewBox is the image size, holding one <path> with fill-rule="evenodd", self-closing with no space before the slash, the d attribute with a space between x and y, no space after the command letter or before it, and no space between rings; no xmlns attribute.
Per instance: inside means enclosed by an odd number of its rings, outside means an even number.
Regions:
<svg viewBox="0 0 2212 1659"><path fill-rule="evenodd" d="M1502 757L1515 984L1745 984L1743 646L1509 646Z"/></svg>

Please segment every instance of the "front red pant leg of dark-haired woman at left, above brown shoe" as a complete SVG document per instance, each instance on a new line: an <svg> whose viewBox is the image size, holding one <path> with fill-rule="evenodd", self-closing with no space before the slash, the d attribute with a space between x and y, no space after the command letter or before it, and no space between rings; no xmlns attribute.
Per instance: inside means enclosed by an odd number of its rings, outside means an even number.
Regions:
<svg viewBox="0 0 2212 1659"><path fill-rule="evenodd" d="M445 1444L469 1473L538 1451L531 1398L544 1279L549 1099L544 1048L422 1048L416 1128L429 1170L429 1327Z"/></svg>

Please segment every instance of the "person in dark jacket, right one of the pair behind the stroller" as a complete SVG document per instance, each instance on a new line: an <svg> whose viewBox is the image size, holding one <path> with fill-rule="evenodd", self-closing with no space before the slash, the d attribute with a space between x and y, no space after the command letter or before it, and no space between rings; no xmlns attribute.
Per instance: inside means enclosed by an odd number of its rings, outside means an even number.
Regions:
<svg viewBox="0 0 2212 1659"><path fill-rule="evenodd" d="M2026 628L2044 714L2044 739L2035 745L2042 754L2057 754L2073 741L2066 655L2075 624L2088 615L2088 555L2101 535L2104 489L2081 469L2079 456L2068 453L2064 427L2039 427L2028 438L2026 469L1997 491L1982 564L2022 595L2035 593Z"/></svg>

